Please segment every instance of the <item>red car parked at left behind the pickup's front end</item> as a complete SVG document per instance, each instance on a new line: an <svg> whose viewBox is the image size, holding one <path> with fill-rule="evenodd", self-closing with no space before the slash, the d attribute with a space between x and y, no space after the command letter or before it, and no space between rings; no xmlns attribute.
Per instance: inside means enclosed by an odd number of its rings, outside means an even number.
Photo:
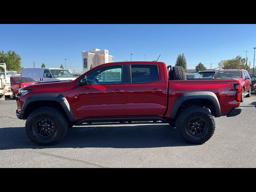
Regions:
<svg viewBox="0 0 256 192"><path fill-rule="evenodd" d="M20 88L39 83L38 81L35 81L34 79L26 76L11 76L10 80L12 89L12 94L10 95L11 99L15 99L15 96L18 94Z"/></svg>

